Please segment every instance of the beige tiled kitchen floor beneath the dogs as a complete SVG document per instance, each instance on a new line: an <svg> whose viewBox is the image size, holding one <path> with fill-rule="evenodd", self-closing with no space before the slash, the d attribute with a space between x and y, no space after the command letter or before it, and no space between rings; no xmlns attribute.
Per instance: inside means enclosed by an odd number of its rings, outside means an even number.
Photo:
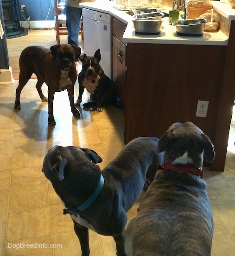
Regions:
<svg viewBox="0 0 235 256"><path fill-rule="evenodd" d="M47 103L41 102L30 80L21 94L21 110L14 110L14 85L0 86L0 217L3 222L3 255L80 255L78 239L70 216L51 183L42 173L47 150L54 145L75 145L94 149L102 156L101 168L124 146L124 110L108 106L102 113L79 108L81 119L72 117L67 92L55 94L56 127L47 125ZM44 90L46 91L46 86ZM45 92L46 93L46 92ZM78 85L76 84L76 95ZM83 101L87 100L84 95ZM234 120L235 122L235 120ZM231 148L235 129L232 128ZM214 213L212 256L235 255L235 154L228 152L225 171L205 170L208 193ZM139 203L128 212L127 253L131 256L131 227ZM41 248L15 248L33 244ZM61 248L45 245L61 244ZM115 256L112 237L90 231L91 256Z"/></svg>

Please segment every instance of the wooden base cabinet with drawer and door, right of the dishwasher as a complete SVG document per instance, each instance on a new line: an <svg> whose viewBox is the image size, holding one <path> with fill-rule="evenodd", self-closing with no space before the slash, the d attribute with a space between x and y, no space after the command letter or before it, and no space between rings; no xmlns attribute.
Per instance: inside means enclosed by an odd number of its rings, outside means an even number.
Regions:
<svg viewBox="0 0 235 256"><path fill-rule="evenodd" d="M127 24L113 19L113 80L118 97L124 106L126 101L126 45L122 42L122 35L126 27Z"/></svg>

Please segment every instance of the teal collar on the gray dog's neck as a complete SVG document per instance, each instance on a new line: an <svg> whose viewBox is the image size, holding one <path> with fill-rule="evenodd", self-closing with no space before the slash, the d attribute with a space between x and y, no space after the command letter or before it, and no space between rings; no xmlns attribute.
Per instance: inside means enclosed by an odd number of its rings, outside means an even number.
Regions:
<svg viewBox="0 0 235 256"><path fill-rule="evenodd" d="M83 202L83 204L81 204L80 206L78 206L76 209L64 209L63 214L76 214L78 212L82 212L85 209L87 209L89 206L91 206L93 204L93 202L95 202L95 199L100 195L102 189L104 186L104 177L101 174L100 177L100 182L98 183L96 189L94 190L94 192L92 193L92 195L85 201Z"/></svg>

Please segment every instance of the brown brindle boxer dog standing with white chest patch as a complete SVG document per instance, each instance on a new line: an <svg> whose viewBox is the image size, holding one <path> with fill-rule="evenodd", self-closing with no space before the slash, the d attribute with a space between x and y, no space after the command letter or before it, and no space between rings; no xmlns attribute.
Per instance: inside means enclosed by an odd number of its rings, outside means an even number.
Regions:
<svg viewBox="0 0 235 256"><path fill-rule="evenodd" d="M50 49L41 46L26 47L19 57L19 86L16 89L14 108L21 109L20 93L34 73L38 79L36 84L38 94L42 101L48 101L49 125L56 125L53 115L54 94L65 89L68 91L73 115L80 117L73 98L77 78L75 61L80 54L80 47L69 44L54 45ZM48 98L42 93L44 82L48 86Z"/></svg>

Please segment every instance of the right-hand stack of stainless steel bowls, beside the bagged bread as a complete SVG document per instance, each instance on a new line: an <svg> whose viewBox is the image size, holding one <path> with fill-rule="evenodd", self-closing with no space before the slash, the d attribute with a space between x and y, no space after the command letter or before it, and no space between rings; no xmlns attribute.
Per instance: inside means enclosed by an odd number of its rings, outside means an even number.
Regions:
<svg viewBox="0 0 235 256"><path fill-rule="evenodd" d="M207 20L205 19L188 19L176 20L172 23L176 27L179 35L202 36Z"/></svg>

